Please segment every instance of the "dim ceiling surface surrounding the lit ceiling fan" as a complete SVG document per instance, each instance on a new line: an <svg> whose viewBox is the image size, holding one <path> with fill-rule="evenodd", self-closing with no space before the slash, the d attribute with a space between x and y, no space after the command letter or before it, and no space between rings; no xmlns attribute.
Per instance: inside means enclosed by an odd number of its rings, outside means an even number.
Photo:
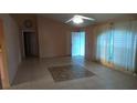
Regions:
<svg viewBox="0 0 137 103"><path fill-rule="evenodd" d="M88 18L95 19L95 21L88 21L84 20L84 23L78 25L78 27L86 27L96 22L103 22L107 21L109 19L117 19L117 18L124 18L124 17L131 17L133 14L127 14L127 13L42 13L41 16L52 18L54 20L65 22L68 19L71 19L74 14L81 14L85 16ZM68 24L76 27L73 22L70 22Z"/></svg>

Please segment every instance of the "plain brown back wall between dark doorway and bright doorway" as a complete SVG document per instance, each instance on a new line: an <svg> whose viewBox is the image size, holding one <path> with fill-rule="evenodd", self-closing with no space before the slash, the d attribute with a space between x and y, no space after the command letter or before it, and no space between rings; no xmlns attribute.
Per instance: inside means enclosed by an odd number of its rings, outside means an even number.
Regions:
<svg viewBox="0 0 137 103"><path fill-rule="evenodd" d="M38 32L41 58L71 54L71 29L66 24L49 18L38 17Z"/></svg>

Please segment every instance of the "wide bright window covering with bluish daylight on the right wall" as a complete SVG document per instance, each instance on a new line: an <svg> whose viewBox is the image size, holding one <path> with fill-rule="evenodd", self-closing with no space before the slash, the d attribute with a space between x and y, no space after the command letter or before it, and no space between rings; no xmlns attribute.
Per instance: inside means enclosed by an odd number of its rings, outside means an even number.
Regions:
<svg viewBox="0 0 137 103"><path fill-rule="evenodd" d="M136 71L137 21L118 22L98 28L96 59L117 69Z"/></svg>

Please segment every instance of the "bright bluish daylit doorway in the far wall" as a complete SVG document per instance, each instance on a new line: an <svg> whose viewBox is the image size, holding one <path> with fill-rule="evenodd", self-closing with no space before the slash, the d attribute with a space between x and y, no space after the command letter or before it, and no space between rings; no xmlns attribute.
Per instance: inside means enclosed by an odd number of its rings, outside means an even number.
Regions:
<svg viewBox="0 0 137 103"><path fill-rule="evenodd" d="M85 56L85 32L72 32L72 56Z"/></svg>

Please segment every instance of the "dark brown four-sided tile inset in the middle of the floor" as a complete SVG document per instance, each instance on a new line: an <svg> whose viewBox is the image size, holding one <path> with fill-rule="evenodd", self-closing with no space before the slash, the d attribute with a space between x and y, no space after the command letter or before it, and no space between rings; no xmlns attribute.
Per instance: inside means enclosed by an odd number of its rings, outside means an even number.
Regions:
<svg viewBox="0 0 137 103"><path fill-rule="evenodd" d="M49 68L50 73L55 82L68 81L81 78L88 78L95 75L93 72L86 70L81 65L62 65Z"/></svg>

